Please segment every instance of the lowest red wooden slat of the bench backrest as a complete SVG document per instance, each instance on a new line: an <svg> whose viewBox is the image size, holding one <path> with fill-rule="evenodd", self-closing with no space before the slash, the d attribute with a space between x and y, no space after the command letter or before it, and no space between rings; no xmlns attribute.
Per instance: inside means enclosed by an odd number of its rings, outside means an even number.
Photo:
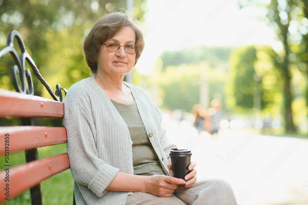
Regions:
<svg viewBox="0 0 308 205"><path fill-rule="evenodd" d="M28 162L16 167L9 168L9 182L5 182L6 171L0 173L1 190L5 190L6 183L9 184L10 199L26 191L41 181L70 168L68 155L66 153ZM3 193L3 192L2 192ZM0 203L6 201L0 198Z"/></svg>

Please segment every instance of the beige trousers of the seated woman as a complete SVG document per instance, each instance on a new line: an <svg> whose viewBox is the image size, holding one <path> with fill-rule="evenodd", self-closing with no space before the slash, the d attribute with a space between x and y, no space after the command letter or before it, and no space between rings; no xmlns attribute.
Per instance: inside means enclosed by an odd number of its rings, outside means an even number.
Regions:
<svg viewBox="0 0 308 205"><path fill-rule="evenodd" d="M179 187L171 197L159 197L143 192L133 192L125 205L237 205L232 187L221 179L195 183L192 187Z"/></svg>

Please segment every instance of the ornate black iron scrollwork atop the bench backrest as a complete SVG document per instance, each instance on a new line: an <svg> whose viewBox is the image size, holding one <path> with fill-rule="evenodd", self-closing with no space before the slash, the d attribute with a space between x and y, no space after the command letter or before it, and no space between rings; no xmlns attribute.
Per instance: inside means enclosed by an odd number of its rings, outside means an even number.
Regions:
<svg viewBox="0 0 308 205"><path fill-rule="evenodd" d="M18 53L16 49L14 48L14 44L13 44L14 38L17 39L19 48L21 50L20 56L18 56ZM60 102L63 102L63 95L62 95L60 84L56 86L56 94L55 94L50 88L50 86L48 85L48 83L46 82L46 80L40 74L39 69L35 65L31 56L27 53L25 49L25 43L23 42L22 37L19 34L19 32L16 30L11 31L9 33L7 37L7 46L0 51L0 58L3 55L6 55L7 53L10 53L12 55L16 63L16 65L11 67L11 74L13 78L13 85L17 92L34 95L34 86L33 86L30 69L25 69L25 63L27 61L30 67L32 68L32 70L34 71L36 77L45 86L45 88L47 89L51 97L54 100L59 101L59 99L57 98L57 96L59 96ZM20 80L21 85L19 84L19 81L18 81L18 75L19 75L19 80ZM62 88L62 90L64 90L65 95L66 95L67 90L64 88Z"/></svg>

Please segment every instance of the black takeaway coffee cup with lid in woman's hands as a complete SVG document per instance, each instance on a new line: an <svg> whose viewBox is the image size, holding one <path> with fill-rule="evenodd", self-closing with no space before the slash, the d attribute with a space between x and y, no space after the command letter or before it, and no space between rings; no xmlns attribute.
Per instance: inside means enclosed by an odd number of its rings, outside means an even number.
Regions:
<svg viewBox="0 0 308 205"><path fill-rule="evenodd" d="M177 148L171 149L169 156L171 157L174 177L184 179L185 175L190 172L188 166L190 165L190 156L192 155L193 154L190 150L178 150Z"/></svg>

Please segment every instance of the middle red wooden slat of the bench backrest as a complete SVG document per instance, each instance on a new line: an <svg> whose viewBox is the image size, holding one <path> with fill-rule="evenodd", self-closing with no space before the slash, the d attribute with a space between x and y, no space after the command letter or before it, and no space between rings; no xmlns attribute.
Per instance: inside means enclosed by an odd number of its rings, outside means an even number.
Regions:
<svg viewBox="0 0 308 205"><path fill-rule="evenodd" d="M67 142L64 127L10 126L0 127L0 155L5 154L5 134L9 134L9 152L31 150L37 147Z"/></svg>

